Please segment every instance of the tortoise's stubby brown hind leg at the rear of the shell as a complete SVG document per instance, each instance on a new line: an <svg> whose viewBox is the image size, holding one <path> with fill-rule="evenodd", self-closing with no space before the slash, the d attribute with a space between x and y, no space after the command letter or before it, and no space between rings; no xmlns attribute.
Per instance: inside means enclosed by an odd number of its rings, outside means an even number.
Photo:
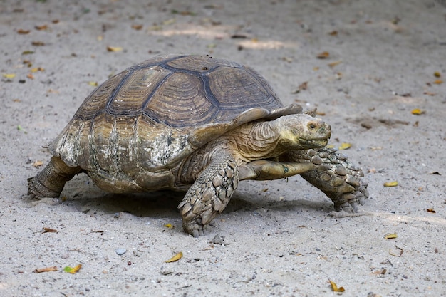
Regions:
<svg viewBox="0 0 446 297"><path fill-rule="evenodd" d="M28 194L33 197L59 197L65 183L80 171L81 167L69 167L60 157L52 157L41 172L28 178Z"/></svg>

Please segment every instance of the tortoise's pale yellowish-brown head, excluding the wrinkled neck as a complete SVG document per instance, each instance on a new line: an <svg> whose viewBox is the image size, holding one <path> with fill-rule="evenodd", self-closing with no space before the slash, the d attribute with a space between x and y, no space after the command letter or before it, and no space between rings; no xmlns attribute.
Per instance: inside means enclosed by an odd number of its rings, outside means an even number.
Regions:
<svg viewBox="0 0 446 297"><path fill-rule="evenodd" d="M282 147L305 150L324 147L331 136L331 127L320 118L299 113L277 119Z"/></svg>

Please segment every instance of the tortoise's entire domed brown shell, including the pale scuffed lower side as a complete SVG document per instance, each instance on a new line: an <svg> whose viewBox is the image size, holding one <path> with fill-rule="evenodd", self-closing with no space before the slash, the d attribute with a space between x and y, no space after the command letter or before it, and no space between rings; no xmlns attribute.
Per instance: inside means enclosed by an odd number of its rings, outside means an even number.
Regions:
<svg viewBox="0 0 446 297"><path fill-rule="evenodd" d="M294 113L301 106L284 107L249 67L209 56L158 56L94 90L48 148L98 179L133 179L177 166L243 123Z"/></svg>

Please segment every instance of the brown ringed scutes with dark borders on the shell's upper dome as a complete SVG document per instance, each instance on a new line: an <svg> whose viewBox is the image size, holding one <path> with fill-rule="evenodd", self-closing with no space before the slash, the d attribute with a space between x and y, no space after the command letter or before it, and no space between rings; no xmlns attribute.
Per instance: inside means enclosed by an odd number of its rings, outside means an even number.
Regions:
<svg viewBox="0 0 446 297"><path fill-rule="evenodd" d="M200 56L155 58L107 80L75 117L145 115L171 127L227 122L249 108L282 104L261 76L234 62Z"/></svg>

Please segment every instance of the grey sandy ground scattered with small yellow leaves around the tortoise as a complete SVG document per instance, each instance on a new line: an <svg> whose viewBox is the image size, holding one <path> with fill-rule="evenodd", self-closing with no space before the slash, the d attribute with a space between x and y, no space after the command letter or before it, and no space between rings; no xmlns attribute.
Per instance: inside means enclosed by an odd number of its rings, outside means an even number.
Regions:
<svg viewBox="0 0 446 297"><path fill-rule="evenodd" d="M0 1L0 296L446 296L441 2ZM107 194L81 174L29 199L42 146L95 83L159 53L247 64L318 108L365 172L362 215L333 217L301 177L242 182L198 239L181 194Z"/></svg>

